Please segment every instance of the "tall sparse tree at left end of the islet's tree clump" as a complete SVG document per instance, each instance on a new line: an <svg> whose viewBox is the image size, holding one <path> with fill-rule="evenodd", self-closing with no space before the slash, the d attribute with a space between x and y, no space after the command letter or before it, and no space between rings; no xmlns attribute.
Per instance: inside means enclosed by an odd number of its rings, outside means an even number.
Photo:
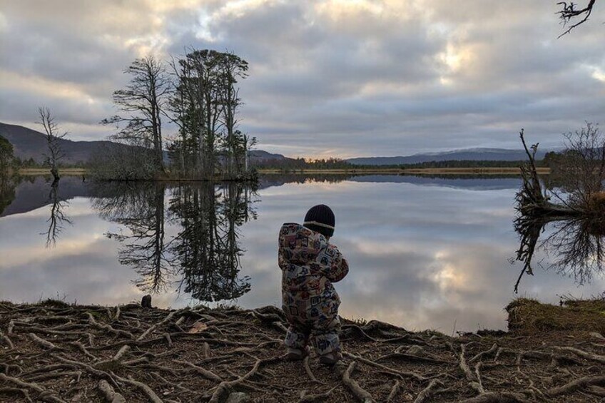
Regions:
<svg viewBox="0 0 605 403"><path fill-rule="evenodd" d="M153 162L157 170L164 170L162 116L168 95L171 92L171 80L161 61L153 56L133 61L124 73L132 76L126 88L113 92L113 103L127 113L116 115L101 121L103 124L121 123L114 140L133 146L153 150Z"/></svg>

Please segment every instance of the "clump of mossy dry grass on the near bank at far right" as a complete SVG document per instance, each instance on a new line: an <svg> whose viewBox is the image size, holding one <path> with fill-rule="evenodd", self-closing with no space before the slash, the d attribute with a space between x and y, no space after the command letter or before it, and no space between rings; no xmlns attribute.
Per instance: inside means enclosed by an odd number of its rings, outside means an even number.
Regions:
<svg viewBox="0 0 605 403"><path fill-rule="evenodd" d="M605 299L568 300L563 306L518 298L506 310L509 331L534 335L556 330L605 332Z"/></svg>

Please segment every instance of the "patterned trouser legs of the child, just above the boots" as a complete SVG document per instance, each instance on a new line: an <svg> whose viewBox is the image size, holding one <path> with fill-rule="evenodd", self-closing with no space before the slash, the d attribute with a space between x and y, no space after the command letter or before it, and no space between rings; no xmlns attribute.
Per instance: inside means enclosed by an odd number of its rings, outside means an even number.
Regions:
<svg viewBox="0 0 605 403"><path fill-rule="evenodd" d="M285 335L285 345L290 348L303 350L311 342L317 354L324 355L340 352L340 320L338 315L320 317L317 320L302 320L288 316L290 327Z"/></svg>

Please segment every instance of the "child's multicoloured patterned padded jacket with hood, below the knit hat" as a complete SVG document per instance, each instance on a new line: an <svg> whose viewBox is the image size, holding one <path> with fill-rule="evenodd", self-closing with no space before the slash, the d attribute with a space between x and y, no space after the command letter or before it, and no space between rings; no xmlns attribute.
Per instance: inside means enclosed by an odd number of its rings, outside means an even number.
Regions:
<svg viewBox="0 0 605 403"><path fill-rule="evenodd" d="M283 310L290 322L293 317L317 322L337 315L340 297L332 282L342 280L349 265L323 235L300 224L284 224L278 264L283 273Z"/></svg>

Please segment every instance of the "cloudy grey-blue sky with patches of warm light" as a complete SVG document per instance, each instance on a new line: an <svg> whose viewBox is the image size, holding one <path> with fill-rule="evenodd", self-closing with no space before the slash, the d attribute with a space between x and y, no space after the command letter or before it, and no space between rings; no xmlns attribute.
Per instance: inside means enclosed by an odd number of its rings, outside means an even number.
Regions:
<svg viewBox="0 0 605 403"><path fill-rule="evenodd" d="M0 0L0 121L39 129L48 106L72 140L104 139L123 70L194 47L250 63L240 129L265 151L519 148L521 128L558 147L605 124L605 1L560 39L556 2Z"/></svg>

